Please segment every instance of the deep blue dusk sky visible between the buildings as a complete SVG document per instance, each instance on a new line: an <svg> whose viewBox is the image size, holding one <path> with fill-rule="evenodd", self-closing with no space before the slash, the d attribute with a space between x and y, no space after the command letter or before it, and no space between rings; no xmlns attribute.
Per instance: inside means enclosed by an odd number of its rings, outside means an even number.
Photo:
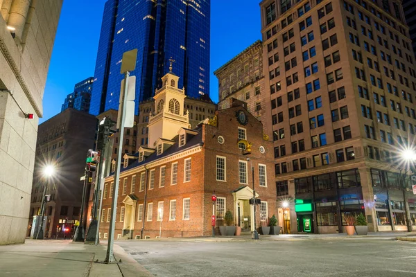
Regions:
<svg viewBox="0 0 416 277"><path fill-rule="evenodd" d="M261 39L260 0L211 0L210 96L218 102L213 72ZM94 76L105 0L64 1L44 93L44 117L60 113L73 86Z"/></svg>

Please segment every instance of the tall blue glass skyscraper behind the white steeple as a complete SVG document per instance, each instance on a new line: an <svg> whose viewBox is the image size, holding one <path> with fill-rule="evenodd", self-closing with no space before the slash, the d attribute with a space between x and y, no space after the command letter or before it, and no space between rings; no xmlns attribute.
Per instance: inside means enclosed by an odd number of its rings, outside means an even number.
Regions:
<svg viewBox="0 0 416 277"><path fill-rule="evenodd" d="M209 96L210 0L108 0L96 60L90 114L119 109L121 59L138 49L138 103L154 95L175 60L173 73L187 96Z"/></svg>

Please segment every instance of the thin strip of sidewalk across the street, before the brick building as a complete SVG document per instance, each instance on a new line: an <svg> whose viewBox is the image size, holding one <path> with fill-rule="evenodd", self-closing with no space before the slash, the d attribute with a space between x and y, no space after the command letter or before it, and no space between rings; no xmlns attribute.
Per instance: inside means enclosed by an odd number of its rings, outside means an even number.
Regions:
<svg viewBox="0 0 416 277"><path fill-rule="evenodd" d="M270 241L291 241L291 240L342 240L342 239L384 239L399 240L399 238L415 238L415 232L370 232L367 235L347 235L347 233L331 233L331 234L288 234L288 235L259 235L259 240ZM158 238L152 240L181 241L181 242L242 242L252 241L251 235L240 235L226 237L216 235L213 237L193 237L193 238Z"/></svg>

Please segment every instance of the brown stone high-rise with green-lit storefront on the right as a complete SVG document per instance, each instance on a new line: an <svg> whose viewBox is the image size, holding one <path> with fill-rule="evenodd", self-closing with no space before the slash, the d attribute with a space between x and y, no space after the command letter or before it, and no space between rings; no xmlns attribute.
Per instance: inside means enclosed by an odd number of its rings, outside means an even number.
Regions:
<svg viewBox="0 0 416 277"><path fill-rule="evenodd" d="M344 215L363 213L370 231L416 225L416 196L399 190L408 168L395 166L416 132L415 56L401 3L260 6L279 224L343 232Z"/></svg>

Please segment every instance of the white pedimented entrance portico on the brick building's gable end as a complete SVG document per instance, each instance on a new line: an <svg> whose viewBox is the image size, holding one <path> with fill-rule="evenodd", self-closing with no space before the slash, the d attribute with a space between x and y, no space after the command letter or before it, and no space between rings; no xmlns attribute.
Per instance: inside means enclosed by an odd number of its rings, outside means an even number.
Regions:
<svg viewBox="0 0 416 277"><path fill-rule="evenodd" d="M248 186L241 186L232 192L234 197L234 222L243 231L254 231L254 208L250 205L253 190ZM256 193L256 198L259 194Z"/></svg>

